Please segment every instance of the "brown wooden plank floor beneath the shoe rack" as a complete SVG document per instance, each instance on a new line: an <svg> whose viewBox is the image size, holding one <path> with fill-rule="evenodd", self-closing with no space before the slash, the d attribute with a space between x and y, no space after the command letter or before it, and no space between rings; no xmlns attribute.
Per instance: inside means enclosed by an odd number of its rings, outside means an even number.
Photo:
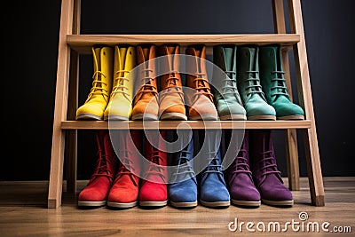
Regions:
<svg viewBox="0 0 355 237"><path fill-rule="evenodd" d="M285 179L285 181L287 181ZM78 181L81 190L86 181ZM287 184L287 182L286 182ZM194 209L174 209L170 206L160 209L78 209L76 195L64 193L63 204L59 209L47 209L48 182L0 182L0 236L354 236L355 233L355 178L324 178L326 206L311 205L308 179L301 178L301 191L293 192L295 205L281 209L264 204L257 209L242 209L230 206L227 209L209 209L198 206ZM308 219L301 221L300 212L306 212ZM305 213L304 213L305 214ZM235 232L229 230L229 223L238 218L241 222L252 222L250 233L246 225ZM304 223L296 231L288 225L286 232L278 233L267 226L286 222ZM319 233L312 230L312 223L320 226ZM324 222L351 233L326 233L321 230ZM265 232L261 232L265 225ZM256 229L256 225L259 229ZM307 233L306 226L310 226ZM273 226L273 225L271 225ZM235 225L231 224L233 229Z"/></svg>

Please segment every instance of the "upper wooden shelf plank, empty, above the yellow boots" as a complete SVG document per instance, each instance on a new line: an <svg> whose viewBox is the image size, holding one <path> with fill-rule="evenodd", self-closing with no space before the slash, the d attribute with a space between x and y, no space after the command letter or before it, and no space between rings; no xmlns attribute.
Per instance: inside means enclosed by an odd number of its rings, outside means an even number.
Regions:
<svg viewBox="0 0 355 237"><path fill-rule="evenodd" d="M115 45L119 43L137 45L139 43L179 43L186 46L204 43L207 46L217 44L270 44L280 43L291 46L300 41L296 34L251 34L251 35L67 35L67 44L81 54L91 54L91 47L98 44Z"/></svg>

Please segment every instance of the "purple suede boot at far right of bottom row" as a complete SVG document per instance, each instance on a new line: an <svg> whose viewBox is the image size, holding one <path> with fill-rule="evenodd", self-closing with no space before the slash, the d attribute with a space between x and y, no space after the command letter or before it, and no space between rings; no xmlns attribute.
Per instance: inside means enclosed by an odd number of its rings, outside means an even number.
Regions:
<svg viewBox="0 0 355 237"><path fill-rule="evenodd" d="M263 203L292 206L292 193L283 185L272 144L272 130L249 130L250 164Z"/></svg>

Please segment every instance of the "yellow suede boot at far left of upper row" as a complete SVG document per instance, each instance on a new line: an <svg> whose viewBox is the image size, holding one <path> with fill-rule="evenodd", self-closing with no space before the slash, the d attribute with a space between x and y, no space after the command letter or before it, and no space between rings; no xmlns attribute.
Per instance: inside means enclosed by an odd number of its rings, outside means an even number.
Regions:
<svg viewBox="0 0 355 237"><path fill-rule="evenodd" d="M114 49L92 48L94 74L92 87L83 106L76 110L77 120L103 120L114 71Z"/></svg>

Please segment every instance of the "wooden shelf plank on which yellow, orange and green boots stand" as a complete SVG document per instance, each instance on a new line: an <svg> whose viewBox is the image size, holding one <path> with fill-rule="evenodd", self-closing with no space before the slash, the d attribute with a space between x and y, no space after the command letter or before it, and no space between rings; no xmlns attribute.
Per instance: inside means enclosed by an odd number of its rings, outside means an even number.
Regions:
<svg viewBox="0 0 355 237"><path fill-rule="evenodd" d="M63 121L62 130L309 129L311 121Z"/></svg>

